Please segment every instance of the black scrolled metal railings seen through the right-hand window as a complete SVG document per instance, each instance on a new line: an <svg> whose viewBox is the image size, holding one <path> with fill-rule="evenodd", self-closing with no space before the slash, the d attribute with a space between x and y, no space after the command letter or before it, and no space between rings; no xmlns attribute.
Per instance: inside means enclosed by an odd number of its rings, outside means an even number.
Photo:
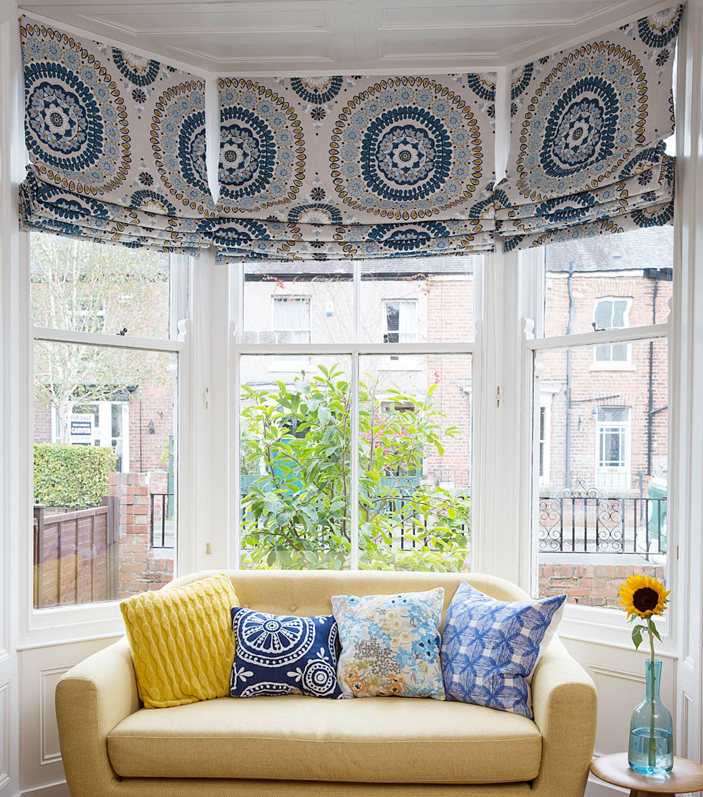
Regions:
<svg viewBox="0 0 703 797"><path fill-rule="evenodd" d="M540 552L665 554L666 498L540 498Z"/></svg>

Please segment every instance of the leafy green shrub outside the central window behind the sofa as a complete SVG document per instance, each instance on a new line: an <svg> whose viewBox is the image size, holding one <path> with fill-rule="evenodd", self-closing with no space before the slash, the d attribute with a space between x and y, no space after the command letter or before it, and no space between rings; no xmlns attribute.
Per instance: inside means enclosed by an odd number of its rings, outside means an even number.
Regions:
<svg viewBox="0 0 703 797"><path fill-rule="evenodd" d="M394 388L383 401L359 386L359 567L460 571L468 556L469 499L420 481L430 450L444 452L442 414L427 395ZM339 569L348 564L351 387L339 366L320 366L293 387L244 387L242 499L249 567ZM260 475L259 475L260 474ZM252 477L250 477L251 479ZM249 481L249 480L247 480ZM404 539L401 548L400 540ZM413 546L414 543L414 547Z"/></svg>

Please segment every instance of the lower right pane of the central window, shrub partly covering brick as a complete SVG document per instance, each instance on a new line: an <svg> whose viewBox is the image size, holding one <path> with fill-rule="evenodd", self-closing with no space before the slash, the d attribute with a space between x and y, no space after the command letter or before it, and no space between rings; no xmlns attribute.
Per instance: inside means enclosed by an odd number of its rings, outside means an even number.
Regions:
<svg viewBox="0 0 703 797"><path fill-rule="evenodd" d="M360 567L469 571L471 358L359 373Z"/></svg>

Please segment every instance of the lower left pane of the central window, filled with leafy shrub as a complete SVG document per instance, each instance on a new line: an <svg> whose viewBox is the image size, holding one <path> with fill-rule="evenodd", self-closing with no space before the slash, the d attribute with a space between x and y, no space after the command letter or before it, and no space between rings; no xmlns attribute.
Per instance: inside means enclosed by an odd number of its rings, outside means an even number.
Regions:
<svg viewBox="0 0 703 797"><path fill-rule="evenodd" d="M278 381L268 362L240 359L241 566L348 567L351 359L311 358Z"/></svg>

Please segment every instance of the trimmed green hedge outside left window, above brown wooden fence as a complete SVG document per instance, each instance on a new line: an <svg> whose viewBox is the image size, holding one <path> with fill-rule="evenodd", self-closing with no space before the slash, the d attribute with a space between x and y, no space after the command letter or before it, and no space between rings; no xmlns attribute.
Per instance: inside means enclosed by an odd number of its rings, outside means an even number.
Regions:
<svg viewBox="0 0 703 797"><path fill-rule="evenodd" d="M108 494L115 450L100 446L34 444L34 502L47 506L99 505Z"/></svg>

